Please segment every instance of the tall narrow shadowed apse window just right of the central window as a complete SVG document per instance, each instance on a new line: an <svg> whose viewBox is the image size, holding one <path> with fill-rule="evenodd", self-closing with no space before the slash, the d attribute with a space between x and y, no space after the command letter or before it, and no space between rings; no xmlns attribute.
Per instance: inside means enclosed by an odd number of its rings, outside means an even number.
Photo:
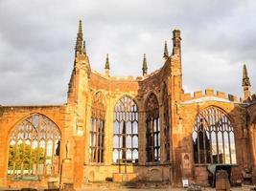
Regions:
<svg viewBox="0 0 256 191"><path fill-rule="evenodd" d="M147 161L160 160L160 124L157 97L151 94L146 101Z"/></svg>

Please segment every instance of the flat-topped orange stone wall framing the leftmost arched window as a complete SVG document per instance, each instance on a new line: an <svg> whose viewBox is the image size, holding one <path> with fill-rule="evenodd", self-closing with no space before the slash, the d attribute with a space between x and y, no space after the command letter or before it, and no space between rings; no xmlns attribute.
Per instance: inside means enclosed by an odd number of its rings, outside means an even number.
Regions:
<svg viewBox="0 0 256 191"><path fill-rule="evenodd" d="M40 114L50 118L59 128L61 137L65 137L64 121L65 110L63 106L1 106L0 107L0 186L20 184L7 179L9 138L15 126L26 117ZM63 153L63 147L61 154ZM60 154L60 158L61 158ZM41 182L44 183L45 180Z"/></svg>

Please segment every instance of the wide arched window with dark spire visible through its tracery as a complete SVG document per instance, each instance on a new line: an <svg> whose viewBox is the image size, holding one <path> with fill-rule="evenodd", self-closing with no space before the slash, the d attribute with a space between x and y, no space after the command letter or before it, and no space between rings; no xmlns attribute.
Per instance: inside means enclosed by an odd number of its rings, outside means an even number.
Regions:
<svg viewBox="0 0 256 191"><path fill-rule="evenodd" d="M199 113L192 138L195 163L236 163L233 126L221 110L210 107Z"/></svg>

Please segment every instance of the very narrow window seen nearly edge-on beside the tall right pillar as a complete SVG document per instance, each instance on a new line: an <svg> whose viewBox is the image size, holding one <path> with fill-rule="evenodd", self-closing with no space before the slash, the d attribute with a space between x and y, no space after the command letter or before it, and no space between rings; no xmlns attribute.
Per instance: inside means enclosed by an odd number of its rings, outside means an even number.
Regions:
<svg viewBox="0 0 256 191"><path fill-rule="evenodd" d="M162 94L162 100L163 100L163 107L164 107L164 148L166 161L170 161L170 122L169 122L169 104L168 104L168 92L167 92L167 86L164 85L163 88L163 94Z"/></svg>

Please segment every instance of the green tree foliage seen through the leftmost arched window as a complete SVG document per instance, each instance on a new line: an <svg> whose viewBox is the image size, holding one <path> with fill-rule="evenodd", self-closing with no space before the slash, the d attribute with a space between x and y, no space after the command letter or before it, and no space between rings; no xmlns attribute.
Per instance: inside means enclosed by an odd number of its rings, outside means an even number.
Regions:
<svg viewBox="0 0 256 191"><path fill-rule="evenodd" d="M37 148L31 147L30 144L21 143L21 144L17 144L16 152L15 152L15 145L10 145L8 168L12 170L13 164L15 162L15 169L21 169L21 165L23 161L24 170L30 169L30 163L31 163L31 169L33 169L34 164L37 163L37 156L38 156L38 163L39 164L44 163L44 148L39 147L37 149Z"/></svg>

